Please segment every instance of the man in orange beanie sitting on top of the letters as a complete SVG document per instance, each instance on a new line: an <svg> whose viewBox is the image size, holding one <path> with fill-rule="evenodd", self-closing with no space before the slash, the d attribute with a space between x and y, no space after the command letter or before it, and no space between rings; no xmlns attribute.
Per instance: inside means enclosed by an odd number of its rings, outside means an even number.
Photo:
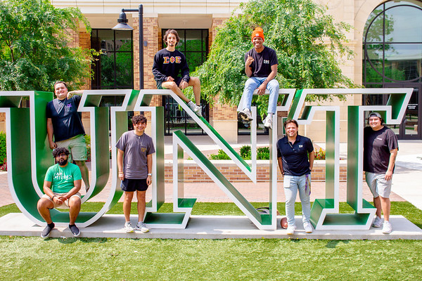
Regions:
<svg viewBox="0 0 422 281"><path fill-rule="evenodd" d="M263 95L265 89L268 89L268 115L264 119L264 126L272 129L272 117L276 113L279 98L279 81L274 79L279 63L276 51L264 46L264 30L261 27L255 28L252 32L252 44L253 48L245 54L245 73L249 79L245 83L241 102L238 105L238 115L246 122L250 122L252 120L250 104L253 91L257 89L258 95Z"/></svg>

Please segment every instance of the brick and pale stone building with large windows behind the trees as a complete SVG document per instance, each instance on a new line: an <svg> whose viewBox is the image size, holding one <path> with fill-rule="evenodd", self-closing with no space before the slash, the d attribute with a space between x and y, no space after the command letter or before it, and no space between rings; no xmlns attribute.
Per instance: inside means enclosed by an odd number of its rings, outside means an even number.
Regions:
<svg viewBox="0 0 422 281"><path fill-rule="evenodd" d="M238 13L238 6L244 1L247 0L143 1L144 88L155 89L151 68L154 54L163 47L163 31L169 28L179 31L183 44L181 51L186 54L192 71L206 59L216 27L222 25L231 13ZM346 37L347 45L354 50L355 56L353 60L343 62L343 74L355 84L367 88L415 89L406 119L393 129L401 139L422 139L422 23L421 20L409 20L409 15L415 19L422 17L422 1L315 1L324 4L328 8L327 13L333 15L336 21L347 22L354 27ZM96 65L96 76L92 81L87 81L87 89L139 89L138 13L127 13L133 32L120 32L112 30L112 27L117 24L122 8L138 8L140 3L125 0L52 0L51 3L60 8L78 7L89 20L93 31L90 35L85 30L79 30L79 34L73 34L73 44L103 51ZM375 25L374 22L381 24ZM367 34L372 34L372 37ZM376 34L375 38L373 34ZM325 103L342 107L340 142L345 142L347 136L345 107L363 103L381 105L386 100L369 95L350 96L345 101ZM184 126L182 131L186 133L201 133L171 100L155 98L153 105L163 105L166 112L170 112L166 113L166 133L180 129L180 126ZM213 107L206 108L206 117L227 141L236 143L238 133L242 131L239 129L236 107L215 103ZM314 141L325 141L324 120L324 114L316 115L312 125L300 128L301 133Z"/></svg>

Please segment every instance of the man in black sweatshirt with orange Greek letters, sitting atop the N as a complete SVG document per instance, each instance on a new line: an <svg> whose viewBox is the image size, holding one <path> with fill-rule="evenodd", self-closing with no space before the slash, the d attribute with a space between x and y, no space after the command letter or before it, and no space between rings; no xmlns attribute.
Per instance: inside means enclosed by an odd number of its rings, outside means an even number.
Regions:
<svg viewBox="0 0 422 281"><path fill-rule="evenodd" d="M176 50L180 38L176 30L167 30L164 34L166 48L154 56L153 74L158 89L170 89L177 94L197 115L202 115L200 107L200 81L198 77L189 77L189 67L183 53ZM181 75L181 77L179 76ZM195 103L186 98L181 91L187 86L193 87Z"/></svg>

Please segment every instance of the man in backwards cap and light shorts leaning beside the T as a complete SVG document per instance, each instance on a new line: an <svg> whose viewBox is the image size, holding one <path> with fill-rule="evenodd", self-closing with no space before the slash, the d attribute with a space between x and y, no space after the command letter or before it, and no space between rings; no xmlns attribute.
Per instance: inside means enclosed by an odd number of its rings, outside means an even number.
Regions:
<svg viewBox="0 0 422 281"><path fill-rule="evenodd" d="M383 224L383 233L388 234L392 231L390 192L399 145L395 133L383 126L383 119L378 112L369 114L368 123L369 126L364 129L364 171L376 207L372 226L379 228Z"/></svg>

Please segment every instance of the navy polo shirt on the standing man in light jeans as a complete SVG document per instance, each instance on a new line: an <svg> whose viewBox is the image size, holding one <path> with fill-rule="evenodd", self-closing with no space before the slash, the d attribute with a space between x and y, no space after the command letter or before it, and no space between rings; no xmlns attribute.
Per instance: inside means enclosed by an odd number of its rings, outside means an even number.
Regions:
<svg viewBox="0 0 422 281"><path fill-rule="evenodd" d="M308 153L314 151L312 141L305 136L296 136L295 143L290 143L287 136L277 142L277 157L283 161L285 175L303 176L310 174Z"/></svg>

